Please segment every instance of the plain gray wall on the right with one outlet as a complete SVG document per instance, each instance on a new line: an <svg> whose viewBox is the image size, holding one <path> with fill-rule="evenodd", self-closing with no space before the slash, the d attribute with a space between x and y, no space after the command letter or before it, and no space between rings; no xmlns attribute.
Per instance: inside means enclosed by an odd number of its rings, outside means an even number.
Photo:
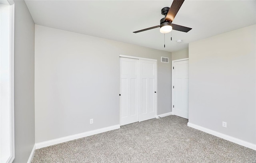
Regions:
<svg viewBox="0 0 256 163"><path fill-rule="evenodd" d="M256 144L255 35L253 25L189 43L190 123Z"/></svg>

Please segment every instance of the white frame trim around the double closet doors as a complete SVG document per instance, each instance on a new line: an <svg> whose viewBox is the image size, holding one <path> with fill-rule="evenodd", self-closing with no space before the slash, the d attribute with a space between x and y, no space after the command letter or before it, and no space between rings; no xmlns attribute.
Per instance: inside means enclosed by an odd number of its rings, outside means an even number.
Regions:
<svg viewBox="0 0 256 163"><path fill-rule="evenodd" d="M143 60L148 60L148 61L156 61L156 112L155 112L156 116L155 117L157 117L157 101L158 101L157 100L157 93L158 93L158 90L157 90L157 59L135 57L135 56L130 56L130 55L122 55L122 54L120 54L119 57L131 58L131 59L143 59ZM140 65L138 65L138 66L139 66L139 69L140 69ZM120 67L119 67L119 69L120 69ZM119 77L119 79L120 79L120 77ZM140 74L139 74L139 79L140 79ZM119 80L119 87L120 87L120 80ZM138 85L138 88L140 88L140 83ZM120 90L119 90L119 92L120 92ZM140 99L140 94L139 94L139 99ZM138 111L140 111L140 110L138 110ZM119 115L120 115L120 100L119 100ZM119 120L120 120L120 116L119 116ZM140 121L140 116L139 116L139 122L141 122ZM119 122L119 124L120 124L120 122Z"/></svg>

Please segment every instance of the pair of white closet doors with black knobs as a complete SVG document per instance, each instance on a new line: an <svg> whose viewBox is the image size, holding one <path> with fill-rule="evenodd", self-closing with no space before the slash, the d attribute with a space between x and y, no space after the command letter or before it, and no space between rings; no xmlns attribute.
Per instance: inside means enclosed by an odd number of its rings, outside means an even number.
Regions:
<svg viewBox="0 0 256 163"><path fill-rule="evenodd" d="M156 61L120 57L120 125L156 117Z"/></svg>

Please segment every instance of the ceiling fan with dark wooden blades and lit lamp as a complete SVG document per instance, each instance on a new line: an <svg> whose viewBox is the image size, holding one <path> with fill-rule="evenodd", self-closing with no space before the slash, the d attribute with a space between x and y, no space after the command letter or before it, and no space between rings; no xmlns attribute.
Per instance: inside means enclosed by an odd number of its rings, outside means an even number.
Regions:
<svg viewBox="0 0 256 163"><path fill-rule="evenodd" d="M170 8L169 7L162 8L161 12L162 12L162 15L164 15L164 18L162 18L160 20L160 25L142 29L139 31L134 31L133 33L147 31L149 29L154 29L154 28L158 28L158 27L160 27L161 33L168 33L170 31L172 31L172 29L176 30L176 31L182 31L182 32L190 31L192 28L180 26L177 24L172 24L172 21L174 20L174 17L180 10L180 7L183 4L183 2L184 2L184 0L174 0L172 2L172 6Z"/></svg>

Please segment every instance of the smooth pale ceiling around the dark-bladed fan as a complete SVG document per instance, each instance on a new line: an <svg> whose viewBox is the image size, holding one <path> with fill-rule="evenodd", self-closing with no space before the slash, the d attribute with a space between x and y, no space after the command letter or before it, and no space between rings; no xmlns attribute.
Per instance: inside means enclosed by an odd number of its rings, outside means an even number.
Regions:
<svg viewBox="0 0 256 163"><path fill-rule="evenodd" d="M132 32L160 25L161 9L170 7L172 0L25 2L35 24L170 52L185 49L192 41L256 24L255 0L185 0L173 23L192 29L167 33L164 47L159 28Z"/></svg>

